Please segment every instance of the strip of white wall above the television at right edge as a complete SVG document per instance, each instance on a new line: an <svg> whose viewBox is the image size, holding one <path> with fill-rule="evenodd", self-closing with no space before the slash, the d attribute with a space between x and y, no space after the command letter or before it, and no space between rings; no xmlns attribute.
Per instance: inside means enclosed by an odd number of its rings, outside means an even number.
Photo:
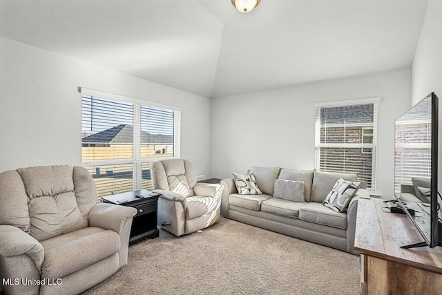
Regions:
<svg viewBox="0 0 442 295"><path fill-rule="evenodd" d="M442 99L442 1L427 5L412 66L412 105L433 91Z"/></svg>

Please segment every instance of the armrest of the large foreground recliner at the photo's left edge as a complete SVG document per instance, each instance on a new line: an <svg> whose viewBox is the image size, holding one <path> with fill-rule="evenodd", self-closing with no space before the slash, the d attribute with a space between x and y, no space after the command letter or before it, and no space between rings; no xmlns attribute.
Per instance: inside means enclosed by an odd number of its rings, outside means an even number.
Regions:
<svg viewBox="0 0 442 295"><path fill-rule="evenodd" d="M27 254L40 271L44 260L44 249L40 242L18 227L0 225L0 255L3 257Z"/></svg>

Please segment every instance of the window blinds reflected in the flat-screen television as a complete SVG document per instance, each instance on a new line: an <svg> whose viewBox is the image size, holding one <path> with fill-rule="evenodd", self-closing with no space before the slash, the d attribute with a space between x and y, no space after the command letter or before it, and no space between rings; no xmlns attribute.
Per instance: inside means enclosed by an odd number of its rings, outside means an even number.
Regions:
<svg viewBox="0 0 442 295"><path fill-rule="evenodd" d="M412 178L431 178L431 99L423 100L395 124L394 192ZM422 119L426 118L426 119Z"/></svg>

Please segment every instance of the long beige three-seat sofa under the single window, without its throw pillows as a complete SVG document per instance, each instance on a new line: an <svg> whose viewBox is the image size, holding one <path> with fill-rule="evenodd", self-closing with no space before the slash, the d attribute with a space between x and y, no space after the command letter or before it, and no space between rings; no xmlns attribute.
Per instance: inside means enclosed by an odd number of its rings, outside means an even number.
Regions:
<svg viewBox="0 0 442 295"><path fill-rule="evenodd" d="M256 184L262 191L261 195L240 195L233 178L221 180L224 186L221 213L225 218L356 254L354 231L358 197L369 197L368 191L358 189L347 211L343 213L333 211L322 204L339 178L356 181L356 174L256 166L253 166L249 173L255 175ZM306 202L273 198L276 179L303 181ZM361 187L364 187L364 184L361 184Z"/></svg>

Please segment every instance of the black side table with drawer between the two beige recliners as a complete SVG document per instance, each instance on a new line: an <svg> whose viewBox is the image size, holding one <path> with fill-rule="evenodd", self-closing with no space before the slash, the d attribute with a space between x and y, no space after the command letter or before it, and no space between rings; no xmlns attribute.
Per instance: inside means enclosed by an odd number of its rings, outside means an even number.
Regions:
<svg viewBox="0 0 442 295"><path fill-rule="evenodd" d="M129 245L140 242L146 238L157 238L160 231L157 228L157 206L159 193L146 189L128 191L102 197L103 202L134 207L137 214L133 217Z"/></svg>

